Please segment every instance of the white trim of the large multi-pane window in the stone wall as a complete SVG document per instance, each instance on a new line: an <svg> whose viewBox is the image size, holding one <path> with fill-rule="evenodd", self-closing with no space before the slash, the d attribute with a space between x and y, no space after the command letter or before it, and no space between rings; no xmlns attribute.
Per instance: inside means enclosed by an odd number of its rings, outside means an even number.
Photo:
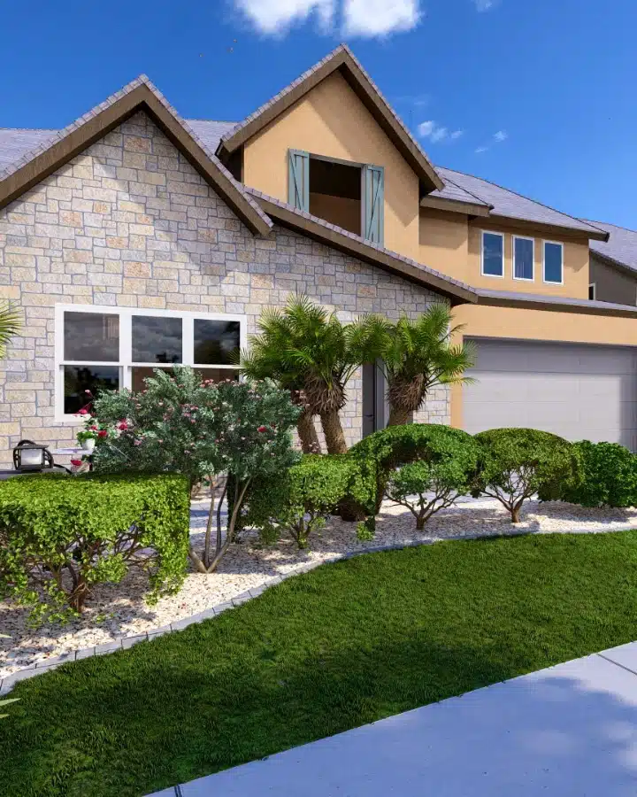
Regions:
<svg viewBox="0 0 637 797"><path fill-rule="evenodd" d="M104 362L98 360L65 360L64 359L64 313L102 313L119 315L119 360ZM55 306L55 422L77 424L76 415L65 414L64 411L64 365L102 365L119 368L119 384L122 388L132 385L131 368L162 368L163 363L133 362L131 327L134 315L160 316L164 318L180 318L183 320L182 362L179 365L196 366L197 368L219 368L236 370L234 365L211 365L195 363L194 360L194 327L195 320L203 321L239 321L239 344L243 349L248 344L248 317L235 313L193 313L181 310L146 310L142 307L107 307L102 305L56 305ZM166 363L170 368L170 363Z"/></svg>

